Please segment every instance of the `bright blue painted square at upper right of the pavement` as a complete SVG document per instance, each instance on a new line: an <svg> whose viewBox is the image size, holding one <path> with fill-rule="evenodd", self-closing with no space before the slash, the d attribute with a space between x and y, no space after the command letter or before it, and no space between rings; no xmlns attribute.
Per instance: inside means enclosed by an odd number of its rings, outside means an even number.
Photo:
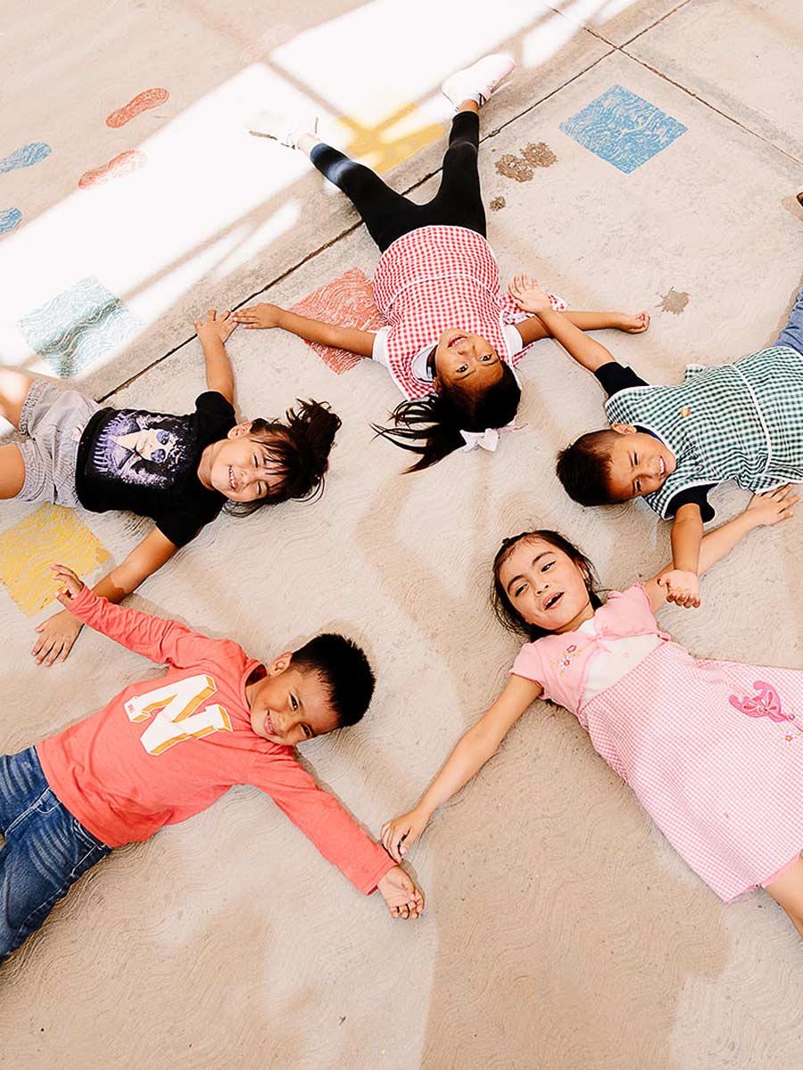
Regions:
<svg viewBox="0 0 803 1070"><path fill-rule="evenodd" d="M606 89L560 128L625 174L686 133L683 123L623 86Z"/></svg>

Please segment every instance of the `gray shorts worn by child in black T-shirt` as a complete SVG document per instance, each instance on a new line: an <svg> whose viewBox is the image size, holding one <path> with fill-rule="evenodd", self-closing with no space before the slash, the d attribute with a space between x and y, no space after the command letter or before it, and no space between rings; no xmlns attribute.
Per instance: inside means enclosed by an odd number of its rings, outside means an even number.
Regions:
<svg viewBox="0 0 803 1070"><path fill-rule="evenodd" d="M28 435L17 446L25 462L22 502L54 502L74 508L78 442L90 416L101 406L78 391L34 379L19 413L19 430Z"/></svg>

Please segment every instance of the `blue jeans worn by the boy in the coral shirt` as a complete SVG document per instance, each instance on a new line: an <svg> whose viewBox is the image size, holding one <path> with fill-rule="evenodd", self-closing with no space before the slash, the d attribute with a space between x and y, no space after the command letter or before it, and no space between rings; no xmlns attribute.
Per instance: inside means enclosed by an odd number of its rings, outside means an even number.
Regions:
<svg viewBox="0 0 803 1070"><path fill-rule="evenodd" d="M56 798L33 747L0 758L0 962L111 850Z"/></svg>

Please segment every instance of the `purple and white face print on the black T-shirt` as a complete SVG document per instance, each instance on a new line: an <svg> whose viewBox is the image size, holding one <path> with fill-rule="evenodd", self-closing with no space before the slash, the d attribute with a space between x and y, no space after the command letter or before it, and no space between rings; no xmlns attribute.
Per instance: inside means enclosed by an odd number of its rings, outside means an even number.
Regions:
<svg viewBox="0 0 803 1070"><path fill-rule="evenodd" d="M198 465L198 434L186 416L116 412L92 443L87 464L97 480L167 490Z"/></svg>

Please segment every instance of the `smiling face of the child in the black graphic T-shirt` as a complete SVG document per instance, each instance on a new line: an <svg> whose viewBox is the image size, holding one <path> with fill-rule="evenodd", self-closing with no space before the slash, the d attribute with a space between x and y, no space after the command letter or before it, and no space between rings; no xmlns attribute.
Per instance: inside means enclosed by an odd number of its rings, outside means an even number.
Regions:
<svg viewBox="0 0 803 1070"><path fill-rule="evenodd" d="M203 450L198 478L231 502L256 502L282 488L283 475L264 438L249 433L251 424L238 424L228 437Z"/></svg>

